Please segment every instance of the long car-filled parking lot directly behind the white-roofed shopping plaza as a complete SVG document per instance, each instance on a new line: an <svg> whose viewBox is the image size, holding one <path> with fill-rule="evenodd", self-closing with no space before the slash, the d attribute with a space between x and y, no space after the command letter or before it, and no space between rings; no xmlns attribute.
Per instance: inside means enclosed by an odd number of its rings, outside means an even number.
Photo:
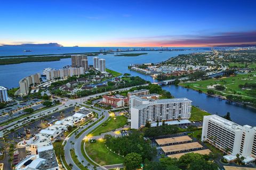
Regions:
<svg viewBox="0 0 256 170"><path fill-rule="evenodd" d="M14 140L15 142L20 142L21 140L34 137L35 134L46 128L49 122L54 120L61 120L62 118L73 115L73 110L74 107L69 107L66 108L63 112L55 112L50 116L44 117L35 122L31 122L28 125L15 130L15 132L9 133L7 139Z"/></svg>

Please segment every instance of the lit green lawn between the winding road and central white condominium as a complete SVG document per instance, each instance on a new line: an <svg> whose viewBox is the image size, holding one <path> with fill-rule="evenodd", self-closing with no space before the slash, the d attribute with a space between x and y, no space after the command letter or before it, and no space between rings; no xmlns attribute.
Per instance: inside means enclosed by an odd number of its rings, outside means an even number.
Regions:
<svg viewBox="0 0 256 170"><path fill-rule="evenodd" d="M127 122L125 116L110 116L107 121L103 122L97 129L91 132L91 135L97 136L101 133L109 132L121 128Z"/></svg>

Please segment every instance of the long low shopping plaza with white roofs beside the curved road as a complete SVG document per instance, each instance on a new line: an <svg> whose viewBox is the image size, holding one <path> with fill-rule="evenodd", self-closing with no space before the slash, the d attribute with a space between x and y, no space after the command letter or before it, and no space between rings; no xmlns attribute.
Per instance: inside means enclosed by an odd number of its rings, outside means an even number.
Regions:
<svg viewBox="0 0 256 170"><path fill-rule="evenodd" d="M68 126L74 126L92 114L87 109L68 116L53 125L41 130L35 137L18 143L18 148L26 148L31 151L31 155L23 159L15 166L17 170L58 170L59 166L55 157L52 140L57 138Z"/></svg>

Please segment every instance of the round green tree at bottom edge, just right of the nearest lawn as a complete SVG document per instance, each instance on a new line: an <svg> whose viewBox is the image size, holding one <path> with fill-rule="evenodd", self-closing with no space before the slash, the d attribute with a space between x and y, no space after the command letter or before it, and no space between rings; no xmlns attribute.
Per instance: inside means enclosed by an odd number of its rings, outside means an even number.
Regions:
<svg viewBox="0 0 256 170"><path fill-rule="evenodd" d="M127 154L124 158L124 165L127 170L134 170L140 167L142 163L142 157L140 154L132 152Z"/></svg>

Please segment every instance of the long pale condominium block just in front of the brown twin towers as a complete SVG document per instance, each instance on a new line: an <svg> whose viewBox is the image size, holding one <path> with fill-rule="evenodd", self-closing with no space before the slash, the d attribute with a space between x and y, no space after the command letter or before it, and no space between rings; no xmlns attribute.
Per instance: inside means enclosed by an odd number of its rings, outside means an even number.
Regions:
<svg viewBox="0 0 256 170"><path fill-rule="evenodd" d="M46 72L46 80L54 80L57 78L67 78L84 74L83 67L70 67L68 69L51 70Z"/></svg>

